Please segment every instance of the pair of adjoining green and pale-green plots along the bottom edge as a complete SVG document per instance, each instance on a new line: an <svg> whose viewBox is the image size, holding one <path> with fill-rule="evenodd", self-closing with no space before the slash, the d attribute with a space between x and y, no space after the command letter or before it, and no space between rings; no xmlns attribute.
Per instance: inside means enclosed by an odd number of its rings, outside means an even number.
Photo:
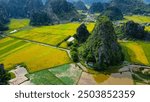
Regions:
<svg viewBox="0 0 150 102"><path fill-rule="evenodd" d="M71 65L65 64L28 74L27 77L36 85L74 85L77 84L81 72L80 69L74 69Z"/></svg>

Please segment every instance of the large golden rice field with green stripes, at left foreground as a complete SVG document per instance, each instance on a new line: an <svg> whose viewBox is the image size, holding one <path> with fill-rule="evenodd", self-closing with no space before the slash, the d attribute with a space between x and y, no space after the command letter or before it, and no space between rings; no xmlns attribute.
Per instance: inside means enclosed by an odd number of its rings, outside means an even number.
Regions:
<svg viewBox="0 0 150 102"><path fill-rule="evenodd" d="M1 39L0 45L0 63L6 69L25 64L31 73L71 62L67 52L52 47L12 38Z"/></svg>

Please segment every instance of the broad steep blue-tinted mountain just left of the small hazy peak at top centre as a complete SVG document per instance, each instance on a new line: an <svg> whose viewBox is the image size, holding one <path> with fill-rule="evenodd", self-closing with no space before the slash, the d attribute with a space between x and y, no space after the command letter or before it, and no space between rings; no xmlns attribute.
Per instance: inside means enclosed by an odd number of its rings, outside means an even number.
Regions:
<svg viewBox="0 0 150 102"><path fill-rule="evenodd" d="M48 0L46 2L46 9L52 9L53 13L55 13L60 21L68 21L73 18L78 18L78 13L73 4L66 0Z"/></svg>

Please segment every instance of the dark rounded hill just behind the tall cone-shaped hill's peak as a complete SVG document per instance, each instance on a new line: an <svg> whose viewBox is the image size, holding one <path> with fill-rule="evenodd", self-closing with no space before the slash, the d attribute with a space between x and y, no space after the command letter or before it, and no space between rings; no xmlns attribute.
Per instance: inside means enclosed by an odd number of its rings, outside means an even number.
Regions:
<svg viewBox="0 0 150 102"><path fill-rule="evenodd" d="M102 15L109 17L112 21L123 19L123 14L121 10L116 7L107 8L106 10L104 10Z"/></svg>

